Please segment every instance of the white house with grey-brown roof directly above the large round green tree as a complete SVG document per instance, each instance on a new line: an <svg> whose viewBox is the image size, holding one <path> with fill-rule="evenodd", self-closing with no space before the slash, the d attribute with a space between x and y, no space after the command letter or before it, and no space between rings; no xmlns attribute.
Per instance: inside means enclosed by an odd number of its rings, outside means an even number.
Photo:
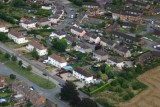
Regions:
<svg viewBox="0 0 160 107"><path fill-rule="evenodd" d="M62 39L64 37L66 37L66 34L60 30L54 30L50 36L49 36L51 39L53 39L54 37L57 37L59 39Z"/></svg>

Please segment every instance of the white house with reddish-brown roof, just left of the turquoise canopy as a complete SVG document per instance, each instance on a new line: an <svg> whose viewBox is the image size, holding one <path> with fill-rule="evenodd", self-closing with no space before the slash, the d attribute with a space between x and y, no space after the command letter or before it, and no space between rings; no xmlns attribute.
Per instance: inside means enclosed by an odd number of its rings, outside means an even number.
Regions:
<svg viewBox="0 0 160 107"><path fill-rule="evenodd" d="M67 61L61 56L58 56L56 54L48 56L48 63L58 68L62 68L67 65Z"/></svg>

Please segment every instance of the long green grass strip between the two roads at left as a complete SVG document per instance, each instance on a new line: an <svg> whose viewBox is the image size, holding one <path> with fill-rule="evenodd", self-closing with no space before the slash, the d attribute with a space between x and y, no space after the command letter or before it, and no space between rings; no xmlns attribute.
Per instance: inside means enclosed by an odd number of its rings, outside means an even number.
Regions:
<svg viewBox="0 0 160 107"><path fill-rule="evenodd" d="M16 62L9 61L9 62L6 63L6 66L8 66L12 70L16 71L20 75L26 77L28 80L37 84L41 88L52 89L56 86L53 82L48 81L47 79L44 79L44 78L42 78L42 77L40 77L40 76L38 76L38 75L36 75L32 72L26 71L25 69L19 67L16 64Z"/></svg>

